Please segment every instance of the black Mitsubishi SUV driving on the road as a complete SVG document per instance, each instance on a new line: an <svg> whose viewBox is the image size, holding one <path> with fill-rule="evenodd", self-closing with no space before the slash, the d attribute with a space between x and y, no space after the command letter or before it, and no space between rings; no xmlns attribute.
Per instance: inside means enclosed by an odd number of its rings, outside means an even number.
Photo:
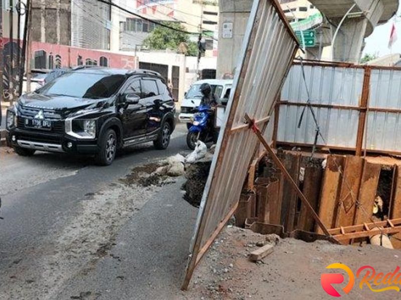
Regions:
<svg viewBox="0 0 401 300"><path fill-rule="evenodd" d="M153 141L157 149L167 148L174 114L160 74L81 67L9 108L8 142L20 155L36 150L94 154L99 164L109 165L123 146Z"/></svg>

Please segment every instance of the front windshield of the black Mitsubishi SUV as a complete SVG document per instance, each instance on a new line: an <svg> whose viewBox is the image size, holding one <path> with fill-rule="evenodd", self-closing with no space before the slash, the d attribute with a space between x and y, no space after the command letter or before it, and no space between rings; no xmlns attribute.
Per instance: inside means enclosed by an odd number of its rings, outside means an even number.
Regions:
<svg viewBox="0 0 401 300"><path fill-rule="evenodd" d="M36 90L45 95L64 95L77 98L101 99L117 92L126 77L116 74L68 72Z"/></svg>

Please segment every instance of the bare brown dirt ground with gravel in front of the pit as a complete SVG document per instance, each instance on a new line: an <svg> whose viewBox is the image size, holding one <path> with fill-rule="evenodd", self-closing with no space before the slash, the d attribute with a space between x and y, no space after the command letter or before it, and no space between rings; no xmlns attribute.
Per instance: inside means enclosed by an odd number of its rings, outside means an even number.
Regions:
<svg viewBox="0 0 401 300"><path fill-rule="evenodd" d="M273 244L271 254L252 262L249 254ZM326 266L341 262L356 271L371 265L378 272L393 272L399 265L401 251L380 246L342 246L328 241L306 243L275 234L262 235L248 229L228 226L217 237L200 261L192 277L187 298L200 299L328 299L320 284L322 273L336 272ZM360 289L360 279L348 294L352 299L374 298L367 286ZM399 293L386 291L382 297L397 299Z"/></svg>

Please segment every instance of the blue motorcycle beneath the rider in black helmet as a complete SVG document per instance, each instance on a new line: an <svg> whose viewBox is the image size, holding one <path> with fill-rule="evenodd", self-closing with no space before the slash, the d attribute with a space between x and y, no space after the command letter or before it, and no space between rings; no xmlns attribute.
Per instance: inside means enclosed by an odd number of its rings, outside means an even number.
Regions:
<svg viewBox="0 0 401 300"><path fill-rule="evenodd" d="M213 110L209 105L200 105L197 108L197 112L193 115L192 125L186 135L186 144L191 150L195 149L198 140L204 143L217 142L219 130L214 126L213 115Z"/></svg>

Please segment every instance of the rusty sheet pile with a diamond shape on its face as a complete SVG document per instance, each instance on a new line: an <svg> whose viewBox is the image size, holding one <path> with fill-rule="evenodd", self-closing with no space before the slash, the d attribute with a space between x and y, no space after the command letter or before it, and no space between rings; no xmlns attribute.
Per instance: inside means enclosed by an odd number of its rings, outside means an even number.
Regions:
<svg viewBox="0 0 401 300"><path fill-rule="evenodd" d="M358 156L347 155L345 157L340 196L338 198L336 227L353 225L363 162L364 159Z"/></svg>

